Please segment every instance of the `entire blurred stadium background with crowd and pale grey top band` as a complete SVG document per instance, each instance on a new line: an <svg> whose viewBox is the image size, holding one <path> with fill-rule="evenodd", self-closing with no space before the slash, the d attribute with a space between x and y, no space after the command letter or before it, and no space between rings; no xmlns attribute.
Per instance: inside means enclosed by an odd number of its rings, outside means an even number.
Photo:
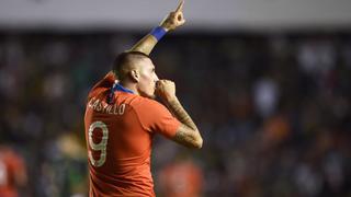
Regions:
<svg viewBox="0 0 351 197"><path fill-rule="evenodd" d="M22 196L86 196L87 93L176 4L0 2L0 139L25 161ZM185 26L151 57L204 147L155 140L158 196L171 195L167 183L202 196L350 196L350 10L346 0L186 1Z"/></svg>

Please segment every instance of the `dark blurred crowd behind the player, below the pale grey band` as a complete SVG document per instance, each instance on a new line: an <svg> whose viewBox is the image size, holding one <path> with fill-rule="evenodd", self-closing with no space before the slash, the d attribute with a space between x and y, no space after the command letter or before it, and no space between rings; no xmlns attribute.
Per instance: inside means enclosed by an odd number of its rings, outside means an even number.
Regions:
<svg viewBox="0 0 351 197"><path fill-rule="evenodd" d="M0 144L24 161L20 196L87 195L87 94L141 36L0 34ZM204 137L194 151L155 139L158 196L351 196L351 34L167 35L151 58Z"/></svg>

